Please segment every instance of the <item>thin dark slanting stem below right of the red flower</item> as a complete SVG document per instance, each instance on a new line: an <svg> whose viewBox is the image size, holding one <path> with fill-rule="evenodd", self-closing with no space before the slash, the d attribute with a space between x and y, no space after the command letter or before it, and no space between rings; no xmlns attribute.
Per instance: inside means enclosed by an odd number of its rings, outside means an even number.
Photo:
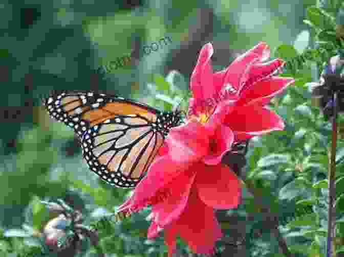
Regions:
<svg viewBox="0 0 344 257"><path fill-rule="evenodd" d="M257 191L257 189L253 185L252 181L250 181L249 179L244 180L244 178L243 178L243 182L246 184L247 190L255 198L255 203L257 205L261 206L262 213L267 213L268 216L270 217L271 222L273 222L273 224L271 224L272 225L271 230L273 232L273 235L277 238L279 248L282 249L282 252L284 255L286 255L287 257L292 257L293 254L289 251L288 245L287 245L285 239L283 238L281 232L278 229L278 217L270 212L269 206L267 206L264 203L264 200L263 200L261 194Z"/></svg>

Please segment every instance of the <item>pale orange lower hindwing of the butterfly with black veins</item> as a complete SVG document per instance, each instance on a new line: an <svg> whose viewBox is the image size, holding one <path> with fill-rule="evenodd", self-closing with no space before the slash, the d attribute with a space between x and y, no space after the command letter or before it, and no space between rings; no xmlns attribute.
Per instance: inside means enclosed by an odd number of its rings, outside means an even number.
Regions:
<svg viewBox="0 0 344 257"><path fill-rule="evenodd" d="M153 124L140 114L118 114L91 127L81 139L89 168L110 184L134 187L163 144Z"/></svg>

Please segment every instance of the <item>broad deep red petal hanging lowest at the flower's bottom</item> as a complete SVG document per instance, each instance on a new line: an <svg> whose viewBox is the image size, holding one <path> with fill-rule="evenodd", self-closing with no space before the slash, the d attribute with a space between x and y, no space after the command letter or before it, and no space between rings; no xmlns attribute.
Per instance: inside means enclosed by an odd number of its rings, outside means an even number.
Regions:
<svg viewBox="0 0 344 257"><path fill-rule="evenodd" d="M196 253L211 253L215 242L222 237L222 232L213 208L205 205L192 190L184 212L171 226L176 226L183 238Z"/></svg>

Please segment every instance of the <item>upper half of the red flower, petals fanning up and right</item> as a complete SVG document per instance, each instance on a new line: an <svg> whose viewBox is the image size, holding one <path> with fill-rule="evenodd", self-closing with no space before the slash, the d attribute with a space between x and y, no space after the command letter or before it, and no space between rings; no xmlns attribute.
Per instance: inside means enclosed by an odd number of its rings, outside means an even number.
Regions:
<svg viewBox="0 0 344 257"><path fill-rule="evenodd" d="M191 75L193 98L189 99L189 114L201 119L204 114L219 118L231 128L235 142L282 130L282 119L264 106L294 82L293 78L272 76L284 62L274 59L262 63L269 58L270 50L265 42L260 42L223 71L212 73L212 53L210 43L203 46Z"/></svg>

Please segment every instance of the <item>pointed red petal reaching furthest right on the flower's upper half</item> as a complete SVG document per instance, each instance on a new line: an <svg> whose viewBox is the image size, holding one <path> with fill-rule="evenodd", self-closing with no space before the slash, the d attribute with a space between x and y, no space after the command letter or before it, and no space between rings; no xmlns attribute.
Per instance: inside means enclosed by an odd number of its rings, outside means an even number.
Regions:
<svg viewBox="0 0 344 257"><path fill-rule="evenodd" d="M282 92L288 85L294 82L294 78L271 77L256 82L253 86L242 92L236 106L259 104L265 105L271 98Z"/></svg>

